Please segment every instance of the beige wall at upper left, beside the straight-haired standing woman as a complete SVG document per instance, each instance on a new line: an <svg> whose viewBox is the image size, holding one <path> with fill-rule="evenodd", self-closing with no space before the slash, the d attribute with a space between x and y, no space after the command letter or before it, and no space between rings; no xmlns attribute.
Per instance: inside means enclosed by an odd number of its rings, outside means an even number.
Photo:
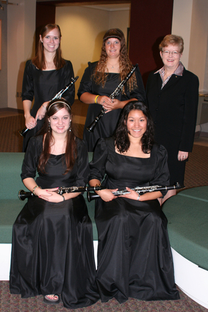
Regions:
<svg viewBox="0 0 208 312"><path fill-rule="evenodd" d="M8 5L8 107L22 109L21 84L26 60L34 55L35 0L12 0Z"/></svg>

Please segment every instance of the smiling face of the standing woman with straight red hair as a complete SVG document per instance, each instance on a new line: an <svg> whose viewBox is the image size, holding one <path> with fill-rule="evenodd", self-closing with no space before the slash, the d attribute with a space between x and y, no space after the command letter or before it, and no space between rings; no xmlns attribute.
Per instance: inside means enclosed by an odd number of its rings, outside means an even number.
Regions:
<svg viewBox="0 0 208 312"><path fill-rule="evenodd" d="M40 40L44 46L44 51L55 53L60 44L60 33L57 28L53 28L52 31L49 31L49 33L45 35L45 37L40 35Z"/></svg>

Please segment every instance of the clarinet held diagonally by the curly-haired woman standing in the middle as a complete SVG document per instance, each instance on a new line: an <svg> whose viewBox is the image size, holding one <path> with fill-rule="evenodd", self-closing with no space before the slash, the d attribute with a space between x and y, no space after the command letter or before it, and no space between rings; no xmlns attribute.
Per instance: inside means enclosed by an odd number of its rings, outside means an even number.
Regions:
<svg viewBox="0 0 208 312"><path fill-rule="evenodd" d="M125 85L125 83L128 82L129 78L132 76L132 74L135 72L135 70L137 69L138 64L136 64L134 67L132 67L131 71L128 73L128 75L125 77L125 79L123 79L121 81L121 83L118 85L118 87L116 87L116 89L114 90L114 92L112 94L110 94L110 98L113 99L116 96L119 95L119 93L123 90L123 86ZM92 123L86 128L89 132L94 132L94 128L96 127L96 124L98 123L98 121L101 119L101 117L105 114L106 110L103 107L103 109L101 110L101 112L99 112L98 116L96 116L96 118L94 119L94 121L92 121Z"/></svg>

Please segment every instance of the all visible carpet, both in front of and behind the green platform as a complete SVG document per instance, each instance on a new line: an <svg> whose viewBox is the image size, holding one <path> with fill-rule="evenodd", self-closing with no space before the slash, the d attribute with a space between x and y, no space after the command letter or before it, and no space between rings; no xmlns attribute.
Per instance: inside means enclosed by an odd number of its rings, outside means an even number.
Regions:
<svg viewBox="0 0 208 312"><path fill-rule="evenodd" d="M23 138L18 130L24 128L23 114L18 116L0 118L0 153L21 152ZM77 137L83 137L84 125L73 124ZM184 185L186 188L208 185L208 147L193 146L193 152L187 162ZM98 301L94 306L76 309L77 312L207 312L187 295L180 291L180 300L144 302L130 298L127 302L119 304L116 300L107 303ZM30 312L30 311L74 311L65 309L62 303L46 305L42 296L21 299L20 295L10 295L8 281L0 281L0 311L1 312Z"/></svg>

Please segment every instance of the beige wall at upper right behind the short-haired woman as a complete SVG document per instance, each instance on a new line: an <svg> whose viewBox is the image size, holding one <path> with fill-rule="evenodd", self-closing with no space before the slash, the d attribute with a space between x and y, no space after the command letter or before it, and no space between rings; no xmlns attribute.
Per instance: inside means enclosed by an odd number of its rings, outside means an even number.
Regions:
<svg viewBox="0 0 208 312"><path fill-rule="evenodd" d="M172 33L184 39L182 63L198 76L200 92L208 92L207 17L207 0L174 0Z"/></svg>

